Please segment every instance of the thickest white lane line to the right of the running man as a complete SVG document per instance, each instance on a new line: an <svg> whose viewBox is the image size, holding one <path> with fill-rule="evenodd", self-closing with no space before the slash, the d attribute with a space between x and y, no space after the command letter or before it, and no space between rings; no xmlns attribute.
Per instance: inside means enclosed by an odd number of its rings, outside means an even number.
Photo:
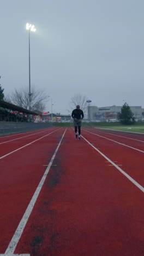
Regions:
<svg viewBox="0 0 144 256"><path fill-rule="evenodd" d="M118 167L115 162L111 161L109 158L107 158L106 155L104 155L102 152L100 152L99 149L95 148L89 141L87 141L87 139L83 136L81 136L83 139L85 139L85 141L91 146L93 147L95 150L97 150L97 152L102 155L107 161L109 161L113 166L115 166L117 168L117 170L119 172L121 172L125 177L127 177L137 188L139 188L142 192L144 192L144 188L135 181L135 179L131 178L126 172L124 172L120 167Z"/></svg>

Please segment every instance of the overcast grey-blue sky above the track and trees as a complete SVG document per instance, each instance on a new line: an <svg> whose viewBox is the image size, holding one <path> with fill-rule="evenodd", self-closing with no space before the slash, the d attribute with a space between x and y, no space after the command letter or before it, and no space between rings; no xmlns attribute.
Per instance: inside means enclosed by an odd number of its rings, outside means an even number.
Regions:
<svg viewBox="0 0 144 256"><path fill-rule="evenodd" d="M143 0L0 0L0 75L4 94L31 84L67 113L71 97L91 106L144 107ZM50 101L46 110L51 110Z"/></svg>

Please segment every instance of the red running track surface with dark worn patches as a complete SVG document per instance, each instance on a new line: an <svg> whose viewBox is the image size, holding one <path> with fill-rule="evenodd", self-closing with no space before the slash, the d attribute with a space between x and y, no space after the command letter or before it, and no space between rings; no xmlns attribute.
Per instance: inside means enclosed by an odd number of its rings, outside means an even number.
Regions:
<svg viewBox="0 0 144 256"><path fill-rule="evenodd" d="M52 128L0 138L0 254L144 255L143 135L82 128L82 136Z"/></svg>

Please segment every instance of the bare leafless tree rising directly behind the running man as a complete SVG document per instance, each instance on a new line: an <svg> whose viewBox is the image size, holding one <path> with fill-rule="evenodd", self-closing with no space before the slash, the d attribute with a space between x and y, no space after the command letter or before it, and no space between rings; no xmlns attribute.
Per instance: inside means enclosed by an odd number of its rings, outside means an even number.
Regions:
<svg viewBox="0 0 144 256"><path fill-rule="evenodd" d="M77 105L80 105L80 108L83 110L83 113L87 113L87 97L82 96L81 94L76 94L71 97L70 108L74 109Z"/></svg>

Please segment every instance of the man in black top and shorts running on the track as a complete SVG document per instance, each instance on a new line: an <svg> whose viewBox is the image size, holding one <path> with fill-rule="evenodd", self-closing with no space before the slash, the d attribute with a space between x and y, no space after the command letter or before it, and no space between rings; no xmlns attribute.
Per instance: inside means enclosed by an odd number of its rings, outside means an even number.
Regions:
<svg viewBox="0 0 144 256"><path fill-rule="evenodd" d="M75 138L77 139L77 127L79 131L79 140L81 140L81 120L84 117L83 111L80 109L80 106L77 105L76 108L71 113L71 117L74 119L75 127Z"/></svg>

